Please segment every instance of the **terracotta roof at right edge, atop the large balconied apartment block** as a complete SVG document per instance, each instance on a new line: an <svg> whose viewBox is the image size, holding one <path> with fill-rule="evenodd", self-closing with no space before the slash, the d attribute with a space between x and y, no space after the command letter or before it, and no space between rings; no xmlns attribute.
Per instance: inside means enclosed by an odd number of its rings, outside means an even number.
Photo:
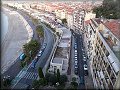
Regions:
<svg viewBox="0 0 120 90"><path fill-rule="evenodd" d="M120 40L120 20L109 20L103 24Z"/></svg>

